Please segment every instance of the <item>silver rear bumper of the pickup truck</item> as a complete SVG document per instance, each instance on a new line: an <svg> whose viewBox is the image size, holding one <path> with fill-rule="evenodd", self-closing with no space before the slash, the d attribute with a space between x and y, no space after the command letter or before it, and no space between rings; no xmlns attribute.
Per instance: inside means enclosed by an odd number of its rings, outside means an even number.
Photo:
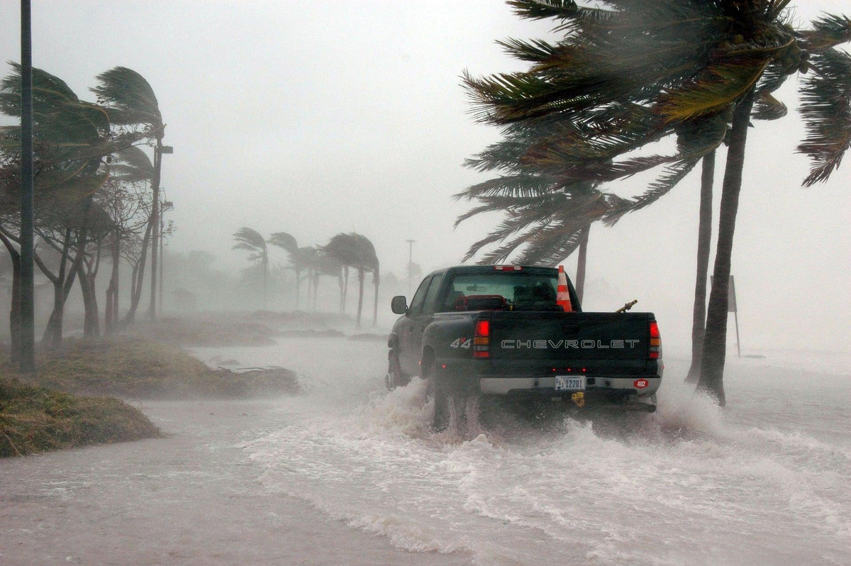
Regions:
<svg viewBox="0 0 851 566"><path fill-rule="evenodd" d="M593 382L591 382L593 380ZM541 377L480 377L479 390L485 395L539 394L553 397L571 395L573 391L556 391L556 377L546 375ZM585 392L595 392L605 395L646 397L659 390L660 375L630 375L625 377L587 378Z"/></svg>

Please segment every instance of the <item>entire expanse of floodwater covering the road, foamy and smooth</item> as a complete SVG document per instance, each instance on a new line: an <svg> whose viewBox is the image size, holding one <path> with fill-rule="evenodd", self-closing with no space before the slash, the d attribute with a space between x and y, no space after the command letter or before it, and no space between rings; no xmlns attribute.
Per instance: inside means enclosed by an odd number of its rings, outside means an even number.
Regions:
<svg viewBox="0 0 851 566"><path fill-rule="evenodd" d="M851 563L847 357L731 357L725 409L668 359L655 414L471 406L432 434L420 380L384 391L380 340L193 352L294 369L306 392L156 403L172 438L0 462L20 499L0 491L0 562L51 563L37 558L67 531L77 563L117 549L116 532L164 537L116 563ZM66 526L33 517L51 497Z"/></svg>

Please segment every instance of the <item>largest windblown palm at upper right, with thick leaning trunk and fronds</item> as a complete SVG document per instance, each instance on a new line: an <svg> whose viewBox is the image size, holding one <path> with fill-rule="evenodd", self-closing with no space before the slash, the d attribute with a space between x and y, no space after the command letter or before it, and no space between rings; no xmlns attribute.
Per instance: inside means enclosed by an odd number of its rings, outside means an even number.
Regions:
<svg viewBox="0 0 851 566"><path fill-rule="evenodd" d="M483 121L505 125L546 117L569 124L559 139L547 140L538 154L572 160L576 169L587 172L601 169L606 158L641 146L643 140L688 129L696 120L724 117L731 124L699 384L723 403L729 259L751 111L755 115L785 112L771 92L786 76L810 66L818 75L829 77L827 82L834 79L837 89L845 92L846 83L836 82L841 73L827 70L842 65L831 66L826 58L807 59L808 52L826 53L848 41L849 20L828 16L811 31L797 31L784 20L788 0L611 1L606 3L610 9L580 8L567 1L514 0L511 4L523 17L561 20L565 37L558 43L505 42L512 54L533 63L531 70L480 80L467 76L465 82L482 108ZM833 51L832 60L848 59L847 54ZM823 102L826 90L811 92ZM847 98L840 97L831 108L833 117L847 104ZM822 180L847 149L847 130L842 135L837 129L820 128L828 123L825 106L814 103L811 107L819 115L819 125L810 129L819 139L818 151L810 151L815 148L807 144L799 149L816 160L808 180ZM618 109L620 116L601 120L611 117L612 109ZM645 112L649 118L642 122ZM605 150L608 156L587 152L589 146ZM692 155L703 157L714 146L717 143L705 143L702 152ZM694 159L679 160L663 180L676 184L694 164ZM652 202L657 188L635 199L633 209Z"/></svg>

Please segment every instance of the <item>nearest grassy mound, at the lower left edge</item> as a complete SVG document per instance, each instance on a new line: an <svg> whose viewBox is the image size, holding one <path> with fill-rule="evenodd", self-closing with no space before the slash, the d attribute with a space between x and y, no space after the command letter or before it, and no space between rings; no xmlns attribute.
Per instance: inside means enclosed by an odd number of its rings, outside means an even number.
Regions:
<svg viewBox="0 0 851 566"><path fill-rule="evenodd" d="M0 379L0 457L159 436L144 414L118 399Z"/></svg>

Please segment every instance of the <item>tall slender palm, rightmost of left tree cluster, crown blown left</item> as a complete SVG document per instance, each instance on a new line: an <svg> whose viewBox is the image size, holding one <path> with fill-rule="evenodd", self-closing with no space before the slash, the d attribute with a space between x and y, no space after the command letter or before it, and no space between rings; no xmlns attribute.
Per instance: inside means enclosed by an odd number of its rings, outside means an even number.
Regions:
<svg viewBox="0 0 851 566"><path fill-rule="evenodd" d="M111 123L143 125L144 134L154 140L154 176L151 181L151 306L150 317L157 317L157 249L159 244L159 190L163 162L165 124L159 110L157 95L138 72L117 66L98 75L100 84L92 92L106 106Z"/></svg>

